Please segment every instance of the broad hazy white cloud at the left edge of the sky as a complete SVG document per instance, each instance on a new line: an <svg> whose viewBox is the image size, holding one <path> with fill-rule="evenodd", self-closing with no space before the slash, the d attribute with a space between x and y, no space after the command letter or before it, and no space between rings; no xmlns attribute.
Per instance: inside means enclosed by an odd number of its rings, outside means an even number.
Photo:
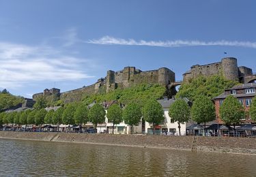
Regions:
<svg viewBox="0 0 256 177"><path fill-rule="evenodd" d="M56 82L91 78L84 65L91 61L64 54L51 46L27 46L0 42L0 88L16 88L32 82Z"/></svg>

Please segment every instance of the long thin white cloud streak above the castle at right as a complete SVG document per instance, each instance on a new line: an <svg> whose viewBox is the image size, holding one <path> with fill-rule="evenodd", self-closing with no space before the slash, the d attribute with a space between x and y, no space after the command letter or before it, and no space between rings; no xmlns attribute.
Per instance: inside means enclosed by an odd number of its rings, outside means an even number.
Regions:
<svg viewBox="0 0 256 177"><path fill-rule="evenodd" d="M185 46L236 46L245 48L256 48L256 42L240 42L220 40L215 42L203 42L198 40L174 40L174 41L136 41L134 39L121 39L104 36L100 39L89 39L85 43L101 45L126 45L126 46L156 46L156 47L185 47Z"/></svg>

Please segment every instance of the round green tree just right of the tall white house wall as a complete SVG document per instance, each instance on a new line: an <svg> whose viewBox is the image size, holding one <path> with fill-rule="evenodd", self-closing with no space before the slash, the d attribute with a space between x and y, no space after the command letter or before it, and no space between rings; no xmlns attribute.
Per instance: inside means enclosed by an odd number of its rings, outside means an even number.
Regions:
<svg viewBox="0 0 256 177"><path fill-rule="evenodd" d="M184 124L190 118L190 108L188 103L186 103L186 101L183 99L176 99L169 108L169 116L173 118L173 120L179 125L178 128L180 135L180 124Z"/></svg>

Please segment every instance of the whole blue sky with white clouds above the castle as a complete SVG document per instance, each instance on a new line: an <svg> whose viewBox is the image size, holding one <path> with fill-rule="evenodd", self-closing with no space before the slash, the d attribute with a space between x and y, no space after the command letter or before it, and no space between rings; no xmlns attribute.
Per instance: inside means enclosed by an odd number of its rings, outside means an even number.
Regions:
<svg viewBox="0 0 256 177"><path fill-rule="evenodd" d="M223 57L256 71L255 8L254 0L0 0L0 90L70 91L126 66L168 67L182 80L192 65Z"/></svg>

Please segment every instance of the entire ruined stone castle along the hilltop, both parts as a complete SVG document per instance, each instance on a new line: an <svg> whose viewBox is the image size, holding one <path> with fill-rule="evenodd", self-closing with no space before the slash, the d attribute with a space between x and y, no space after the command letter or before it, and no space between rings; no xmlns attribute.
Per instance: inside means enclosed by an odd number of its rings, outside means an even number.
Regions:
<svg viewBox="0 0 256 177"><path fill-rule="evenodd" d="M189 71L183 74L183 82L189 82L200 75L213 76L222 74L228 80L238 80L241 83L253 82L256 76L248 67L238 67L236 58L227 57L218 63L208 65L193 65ZM72 91L61 93L57 88L45 89L43 93L33 95L35 101L37 97L45 96L49 101L63 100L64 103L80 101L83 95L95 93L109 93L117 88L128 88L136 84L160 84L167 89L167 96L175 95L175 86L182 82L175 82L175 73L166 67L152 71L141 71L135 67L124 67L121 71L107 71L105 78L100 78L95 84L83 86Z"/></svg>

